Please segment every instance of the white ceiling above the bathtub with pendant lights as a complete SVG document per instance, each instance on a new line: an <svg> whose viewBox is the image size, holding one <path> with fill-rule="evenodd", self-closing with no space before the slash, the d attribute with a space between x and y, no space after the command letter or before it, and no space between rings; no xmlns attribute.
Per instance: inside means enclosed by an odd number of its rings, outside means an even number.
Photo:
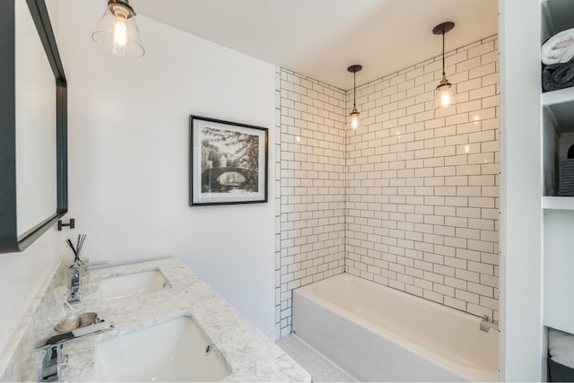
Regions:
<svg viewBox="0 0 574 383"><path fill-rule="evenodd" d="M497 0L131 0L138 14L343 90L498 31ZM145 31L141 30L143 44Z"/></svg>

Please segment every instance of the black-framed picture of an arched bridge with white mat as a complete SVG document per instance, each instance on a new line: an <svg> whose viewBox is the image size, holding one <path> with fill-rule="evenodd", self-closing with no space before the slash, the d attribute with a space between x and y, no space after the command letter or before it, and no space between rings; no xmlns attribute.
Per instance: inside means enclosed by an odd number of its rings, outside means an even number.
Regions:
<svg viewBox="0 0 574 383"><path fill-rule="evenodd" d="M190 206L267 202L267 128L191 116L190 129Z"/></svg>

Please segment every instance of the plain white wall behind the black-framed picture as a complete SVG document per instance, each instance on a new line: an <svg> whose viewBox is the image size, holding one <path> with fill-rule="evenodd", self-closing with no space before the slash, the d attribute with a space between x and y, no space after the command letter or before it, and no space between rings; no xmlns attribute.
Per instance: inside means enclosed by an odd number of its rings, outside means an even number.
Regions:
<svg viewBox="0 0 574 383"><path fill-rule="evenodd" d="M105 6L60 2L69 216L84 256L180 257L272 335L274 182L267 204L189 207L188 131L191 114L268 127L273 160L274 66L142 15L145 56L115 57L91 40Z"/></svg>

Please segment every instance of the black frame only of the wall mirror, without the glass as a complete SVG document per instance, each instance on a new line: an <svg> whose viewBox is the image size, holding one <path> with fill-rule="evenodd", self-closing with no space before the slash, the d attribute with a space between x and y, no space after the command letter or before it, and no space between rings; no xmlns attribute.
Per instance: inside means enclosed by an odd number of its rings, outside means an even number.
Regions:
<svg viewBox="0 0 574 383"><path fill-rule="evenodd" d="M14 2L0 1L0 253L22 251L68 210L67 84L45 0L26 0L55 78L57 95L57 211L18 236L16 212L16 116Z"/></svg>

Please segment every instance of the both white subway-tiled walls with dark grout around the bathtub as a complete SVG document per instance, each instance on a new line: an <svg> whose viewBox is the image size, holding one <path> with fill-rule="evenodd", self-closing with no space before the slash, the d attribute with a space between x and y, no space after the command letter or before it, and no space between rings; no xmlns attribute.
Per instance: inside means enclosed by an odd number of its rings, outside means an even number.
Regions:
<svg viewBox="0 0 574 383"><path fill-rule="evenodd" d="M456 107L432 109L434 57L359 86L356 131L352 90L277 70L281 336L291 290L343 271L498 318L498 38L446 56Z"/></svg>

